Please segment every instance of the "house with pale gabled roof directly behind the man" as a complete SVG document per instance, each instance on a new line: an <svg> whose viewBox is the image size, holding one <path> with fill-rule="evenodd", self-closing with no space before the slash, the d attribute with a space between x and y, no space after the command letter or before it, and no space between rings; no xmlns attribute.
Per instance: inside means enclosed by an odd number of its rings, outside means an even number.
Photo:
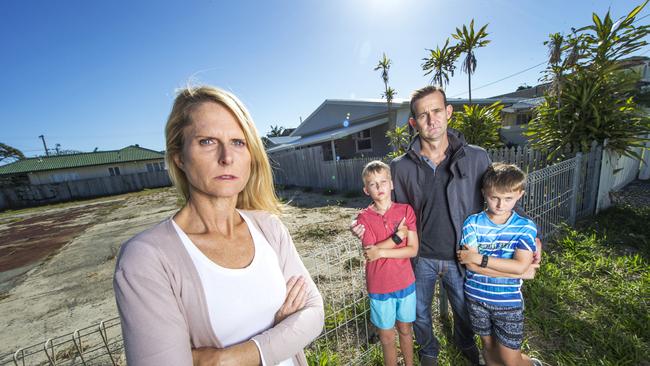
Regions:
<svg viewBox="0 0 650 366"><path fill-rule="evenodd" d="M501 100L511 105L521 98L473 99L473 104L489 105ZM391 104L393 126L389 126L386 101L382 99L327 99L290 135L292 140L278 141L267 152L282 152L321 146L324 160L379 157L391 151L386 132L408 123L408 99ZM449 98L454 110L462 109L467 99Z"/></svg>

